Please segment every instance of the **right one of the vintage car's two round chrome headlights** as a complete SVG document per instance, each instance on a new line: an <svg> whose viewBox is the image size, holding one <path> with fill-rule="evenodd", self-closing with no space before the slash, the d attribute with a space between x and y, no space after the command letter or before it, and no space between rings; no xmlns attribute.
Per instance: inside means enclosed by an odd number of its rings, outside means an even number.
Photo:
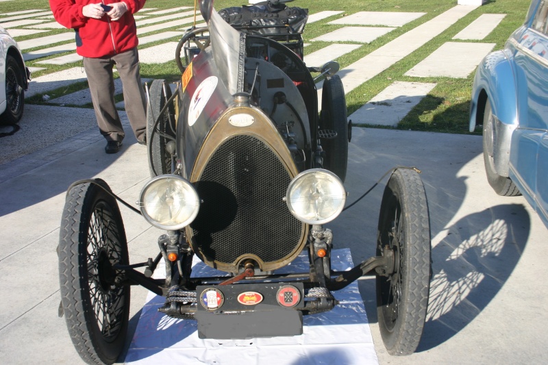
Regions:
<svg viewBox="0 0 548 365"><path fill-rule="evenodd" d="M337 175L321 168L297 175L286 193L291 214L311 225L333 221L343 211L346 200L347 192Z"/></svg>

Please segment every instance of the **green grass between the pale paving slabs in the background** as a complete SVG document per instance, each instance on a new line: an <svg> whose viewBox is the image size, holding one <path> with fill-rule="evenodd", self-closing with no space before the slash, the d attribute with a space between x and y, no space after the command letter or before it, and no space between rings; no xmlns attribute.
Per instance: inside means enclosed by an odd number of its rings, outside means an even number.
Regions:
<svg viewBox="0 0 548 365"><path fill-rule="evenodd" d="M246 3L246 1L233 1L233 0L217 0L215 1L215 8L220 10L221 8L227 8L229 6L238 6ZM322 10L342 10L343 14L353 14L359 11L382 11L382 12L426 12L421 18L412 21L395 29L393 32L386 34L385 36L377 38L377 40L371 42L371 44L362 45L362 47L347 53L338 58L341 68L356 62L365 55L371 53L375 49L386 45L386 43L394 40L398 36L401 36L410 29L429 21L430 19L438 16L439 14L449 10L457 4L456 0L347 0L347 1L333 1L333 0L297 0L289 3L290 6L299 6L301 8L308 8L310 14L320 12ZM397 62L393 66L390 66L386 71L379 73L379 75L373 77L360 87L352 90L347 94L347 108L348 114L355 112L361 105L369 101L379 92L384 90L394 81L418 81L418 82L434 82L437 84L419 105L401 120L398 129L411 129L420 131L438 131L447 133L468 133L468 114L469 104L471 97L471 86L474 73L471 73L466 79L452 79L449 77L408 77L404 75L413 66L421 62L430 53L438 49L445 42L459 42L459 40L453 40L453 36L458 34L464 27L469 25L481 14L506 14L506 17L498 25L498 27L489 34L484 40L479 42L495 43L495 50L502 49L504 43L508 39L508 36L518 28L525 18L527 9L529 8L530 0L496 0L488 1L483 6L473 10L470 14L460 19L457 23L449 27L445 32L428 42L423 47L417 49L403 60ZM193 6L193 0L149 0L145 7L157 8L158 10L175 8L178 6ZM27 9L48 9L48 0L16 0L0 3L0 13L13 12L18 10ZM344 27L344 25L329 25L329 21L332 21L343 14L332 16L330 18L323 19L322 21L312 23L306 26L303 38L305 42L310 42L312 38L332 32L335 29ZM0 23L1 24L1 23ZM166 32L169 30L175 30L180 27L173 27L173 29L162 29L158 31ZM62 32L61 29L55 29L51 32L44 32L41 34L34 34L32 36L26 36L17 38L17 40L25 40L30 38L38 38L42 36L48 36L50 34L57 34ZM147 34L149 35L149 34ZM177 38L170 40L162 40L158 44L166 41L177 41ZM473 41L466 41L473 42ZM145 47L151 47L155 44L147 44ZM312 53L328 45L327 42L313 42L312 45L305 48L305 53ZM27 50L32 51L32 50ZM62 54L52 55L49 58L58 57ZM46 58L33 60L27 62L28 66L43 66L36 64L37 61L45 60ZM53 73L65 68L72 68L75 66L81 66L81 62L69 64L69 65L47 65L47 70L34 73L34 77L45 75L47 73ZM167 62L166 64L143 64L141 67L141 74L144 78L151 79L169 79L171 81L179 79L179 71L175 65L175 61ZM60 88L48 92L50 97L59 97L61 95L74 92L86 88L86 83L80 83L68 88ZM29 99L29 103L43 103L42 96L37 95Z"/></svg>

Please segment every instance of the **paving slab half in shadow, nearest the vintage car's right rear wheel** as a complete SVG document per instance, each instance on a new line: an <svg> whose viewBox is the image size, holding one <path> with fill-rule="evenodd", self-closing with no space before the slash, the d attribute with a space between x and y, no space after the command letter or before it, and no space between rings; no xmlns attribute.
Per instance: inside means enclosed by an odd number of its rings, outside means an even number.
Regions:
<svg viewBox="0 0 548 365"><path fill-rule="evenodd" d="M395 127L436 84L396 81L348 118L352 123Z"/></svg>

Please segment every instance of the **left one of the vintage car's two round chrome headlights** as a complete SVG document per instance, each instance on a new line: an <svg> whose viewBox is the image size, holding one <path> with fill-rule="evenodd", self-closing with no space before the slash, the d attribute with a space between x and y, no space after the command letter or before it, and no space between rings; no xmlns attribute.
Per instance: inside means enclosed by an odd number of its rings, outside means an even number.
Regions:
<svg viewBox="0 0 548 365"><path fill-rule="evenodd" d="M151 225L176 231L194 221L200 201L188 180L178 175L160 175L142 188L139 205Z"/></svg>

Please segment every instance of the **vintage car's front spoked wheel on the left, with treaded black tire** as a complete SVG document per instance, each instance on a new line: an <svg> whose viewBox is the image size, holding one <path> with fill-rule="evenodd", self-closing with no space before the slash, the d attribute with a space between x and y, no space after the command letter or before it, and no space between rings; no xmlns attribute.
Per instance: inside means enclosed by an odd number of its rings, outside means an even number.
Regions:
<svg viewBox="0 0 548 365"><path fill-rule="evenodd" d="M71 188L60 228L64 316L74 347L88 364L115 362L129 323L129 285L114 269L129 264L127 241L116 200L103 188L92 183Z"/></svg>

